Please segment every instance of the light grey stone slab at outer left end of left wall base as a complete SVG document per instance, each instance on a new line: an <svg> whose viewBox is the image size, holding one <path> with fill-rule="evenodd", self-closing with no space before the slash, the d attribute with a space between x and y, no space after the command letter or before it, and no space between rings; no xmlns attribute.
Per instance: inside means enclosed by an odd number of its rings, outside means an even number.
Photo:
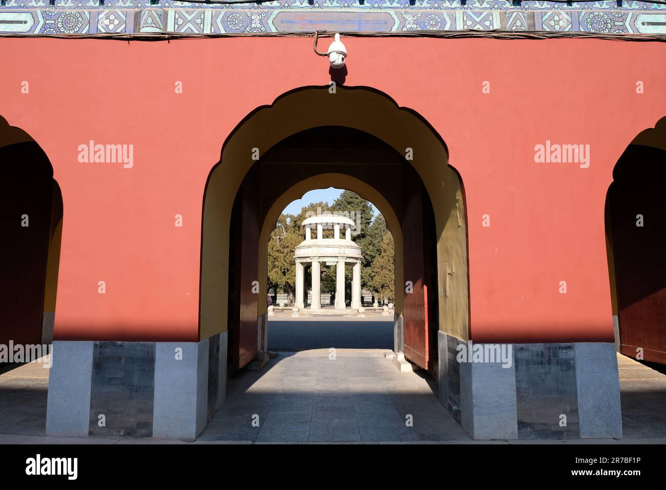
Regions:
<svg viewBox="0 0 666 490"><path fill-rule="evenodd" d="M88 435L93 344L93 341L53 342L47 435Z"/></svg>

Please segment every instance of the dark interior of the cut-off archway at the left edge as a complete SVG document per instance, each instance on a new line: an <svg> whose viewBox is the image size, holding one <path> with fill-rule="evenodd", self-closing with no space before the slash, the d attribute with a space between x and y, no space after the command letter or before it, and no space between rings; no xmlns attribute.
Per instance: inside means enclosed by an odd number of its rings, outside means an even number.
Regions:
<svg viewBox="0 0 666 490"><path fill-rule="evenodd" d="M59 243L57 227L63 203L53 167L37 143L0 147L3 178L0 209L3 273L0 295L6 300L0 344L50 343L53 336Z"/></svg>

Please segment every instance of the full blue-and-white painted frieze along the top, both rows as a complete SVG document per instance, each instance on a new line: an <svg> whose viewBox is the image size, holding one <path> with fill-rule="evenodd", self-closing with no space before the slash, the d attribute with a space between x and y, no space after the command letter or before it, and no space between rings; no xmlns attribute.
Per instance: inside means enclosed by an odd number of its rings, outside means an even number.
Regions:
<svg viewBox="0 0 666 490"><path fill-rule="evenodd" d="M328 31L509 31L666 34L666 5L598 1L571 5L506 0L278 0L219 5L160 0L6 0L0 32L290 33Z"/></svg>

